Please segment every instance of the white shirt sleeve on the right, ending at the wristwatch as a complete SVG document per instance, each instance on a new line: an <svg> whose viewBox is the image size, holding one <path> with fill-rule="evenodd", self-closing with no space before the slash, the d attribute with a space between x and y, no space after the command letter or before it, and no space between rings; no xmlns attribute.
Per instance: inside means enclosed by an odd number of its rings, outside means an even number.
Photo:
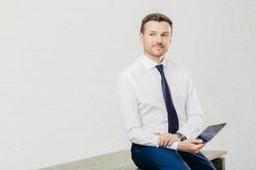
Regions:
<svg viewBox="0 0 256 170"><path fill-rule="evenodd" d="M203 113L201 111L201 104L195 91L195 84L192 81L189 71L184 69L184 78L187 88L185 111L187 115L187 122L183 124L178 130L183 133L188 139L193 138L195 134L200 133L203 125Z"/></svg>

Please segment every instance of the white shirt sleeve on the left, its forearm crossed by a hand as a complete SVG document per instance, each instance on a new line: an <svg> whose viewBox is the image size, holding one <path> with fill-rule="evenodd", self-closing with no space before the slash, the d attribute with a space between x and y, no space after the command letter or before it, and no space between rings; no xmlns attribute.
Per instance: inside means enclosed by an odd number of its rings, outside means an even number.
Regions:
<svg viewBox="0 0 256 170"><path fill-rule="evenodd" d="M125 130L131 143L156 146L159 136L143 129L139 115L137 94L129 75L121 74L118 80L119 105ZM177 143L168 147L177 150Z"/></svg>

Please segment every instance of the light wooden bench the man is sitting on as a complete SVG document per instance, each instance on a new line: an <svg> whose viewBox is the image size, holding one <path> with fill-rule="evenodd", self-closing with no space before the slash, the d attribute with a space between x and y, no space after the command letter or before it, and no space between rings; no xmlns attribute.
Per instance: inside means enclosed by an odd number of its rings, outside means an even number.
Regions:
<svg viewBox="0 0 256 170"><path fill-rule="evenodd" d="M224 170L224 155L227 151L202 151L217 170ZM122 150L94 156L79 161L72 161L53 167L45 167L41 170L138 170L131 161L130 150Z"/></svg>

